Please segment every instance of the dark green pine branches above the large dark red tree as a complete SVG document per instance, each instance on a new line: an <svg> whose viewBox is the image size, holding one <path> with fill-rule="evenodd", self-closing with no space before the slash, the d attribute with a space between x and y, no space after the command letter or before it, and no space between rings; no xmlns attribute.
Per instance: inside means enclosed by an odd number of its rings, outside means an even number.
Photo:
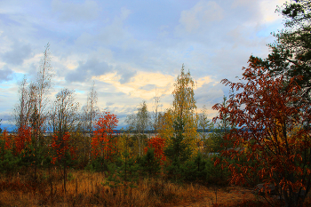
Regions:
<svg viewBox="0 0 311 207"><path fill-rule="evenodd" d="M296 82L302 87L304 97L311 92L311 3L295 0L276 10L283 15L284 27L274 33L276 41L269 44L272 52L257 64L269 69L273 76L283 75L287 83L291 77L302 77ZM258 59L252 57L254 59Z"/></svg>

